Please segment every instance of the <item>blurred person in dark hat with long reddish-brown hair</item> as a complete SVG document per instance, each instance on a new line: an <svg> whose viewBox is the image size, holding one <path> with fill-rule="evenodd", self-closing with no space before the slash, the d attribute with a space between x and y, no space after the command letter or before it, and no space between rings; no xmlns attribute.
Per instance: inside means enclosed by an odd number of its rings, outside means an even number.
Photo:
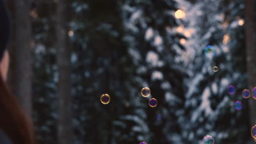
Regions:
<svg viewBox="0 0 256 144"><path fill-rule="evenodd" d="M4 0L0 0L0 143L31 144L34 143L32 122L5 83L9 66L9 55L6 50L9 33L8 12Z"/></svg>

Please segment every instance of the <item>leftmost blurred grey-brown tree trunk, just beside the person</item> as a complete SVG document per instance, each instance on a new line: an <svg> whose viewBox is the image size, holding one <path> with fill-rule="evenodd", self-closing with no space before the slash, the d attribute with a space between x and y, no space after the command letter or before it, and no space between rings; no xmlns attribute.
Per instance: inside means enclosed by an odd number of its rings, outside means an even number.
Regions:
<svg viewBox="0 0 256 144"><path fill-rule="evenodd" d="M18 102L24 108L28 116L32 115L31 97L31 21L30 21L30 1L14 1L14 43L11 45L10 56L14 61L11 64L10 74L11 89L17 97Z"/></svg>

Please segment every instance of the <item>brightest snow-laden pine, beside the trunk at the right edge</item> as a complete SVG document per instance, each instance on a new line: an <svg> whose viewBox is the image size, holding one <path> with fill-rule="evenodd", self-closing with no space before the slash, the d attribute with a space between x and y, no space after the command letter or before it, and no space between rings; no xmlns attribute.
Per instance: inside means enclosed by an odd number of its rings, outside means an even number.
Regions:
<svg viewBox="0 0 256 144"><path fill-rule="evenodd" d="M241 96L247 87L243 9L242 1L212 0L196 1L189 9L194 17L188 16L187 21L195 33L191 44L185 45L190 56L188 70L193 73L184 82L184 117L179 118L184 143L202 142L205 135L212 135L216 143L248 139L247 101ZM216 50L212 59L204 55L207 45ZM213 71L215 65L217 73ZM229 85L236 87L236 94L228 94ZM242 101L243 110L235 110L236 100Z"/></svg>

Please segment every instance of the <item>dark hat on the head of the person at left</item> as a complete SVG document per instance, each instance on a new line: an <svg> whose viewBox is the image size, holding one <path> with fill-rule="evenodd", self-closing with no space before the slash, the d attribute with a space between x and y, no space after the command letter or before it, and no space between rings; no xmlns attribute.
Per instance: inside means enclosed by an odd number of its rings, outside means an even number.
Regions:
<svg viewBox="0 0 256 144"><path fill-rule="evenodd" d="M0 0L0 60L7 47L10 33L10 22L8 11L4 0Z"/></svg>

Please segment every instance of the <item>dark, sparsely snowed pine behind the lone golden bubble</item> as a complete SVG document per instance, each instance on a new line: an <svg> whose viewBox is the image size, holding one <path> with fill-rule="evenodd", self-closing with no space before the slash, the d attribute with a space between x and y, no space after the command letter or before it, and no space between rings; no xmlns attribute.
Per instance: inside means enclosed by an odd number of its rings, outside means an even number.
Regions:
<svg viewBox="0 0 256 144"><path fill-rule="evenodd" d="M78 143L135 142L134 136L128 137L129 125L119 121L133 109L130 95L139 93L139 85L133 77L137 65L123 41L118 6L116 1L73 2L72 93ZM110 95L108 105L101 104L103 93ZM119 136L119 127L124 127L127 139Z"/></svg>

